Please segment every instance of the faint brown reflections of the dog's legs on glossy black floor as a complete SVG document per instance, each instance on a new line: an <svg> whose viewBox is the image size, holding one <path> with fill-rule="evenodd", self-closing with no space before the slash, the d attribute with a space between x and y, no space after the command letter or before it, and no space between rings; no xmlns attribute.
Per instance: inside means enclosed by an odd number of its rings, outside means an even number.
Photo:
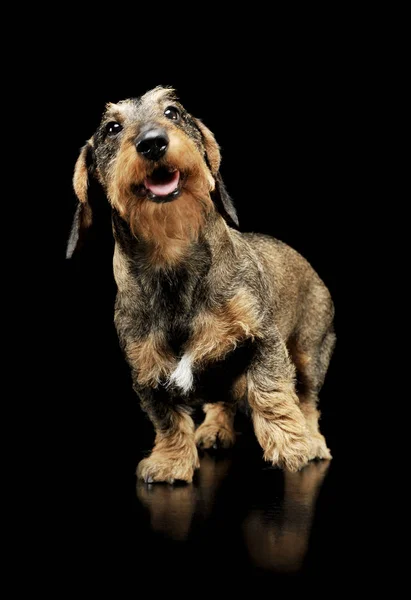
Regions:
<svg viewBox="0 0 411 600"><path fill-rule="evenodd" d="M174 540L186 540L193 519L203 523L218 504L219 488L232 464L230 456L206 454L193 484L137 484L137 497L148 509L151 528ZM249 558L262 569L296 572L303 564L315 504L329 461L312 462L299 473L265 470L262 485L249 496L241 529ZM281 477L279 477L281 475ZM278 483L280 482L280 485ZM251 509L249 508L251 504Z"/></svg>

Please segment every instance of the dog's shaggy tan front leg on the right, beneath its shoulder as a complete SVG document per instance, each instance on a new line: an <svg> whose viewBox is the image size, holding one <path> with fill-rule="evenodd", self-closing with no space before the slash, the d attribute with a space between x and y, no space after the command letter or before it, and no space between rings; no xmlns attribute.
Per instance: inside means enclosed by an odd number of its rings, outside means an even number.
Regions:
<svg viewBox="0 0 411 600"><path fill-rule="evenodd" d="M294 367L276 332L260 340L247 373L247 386L264 459L298 471L308 463L310 437L295 392Z"/></svg>

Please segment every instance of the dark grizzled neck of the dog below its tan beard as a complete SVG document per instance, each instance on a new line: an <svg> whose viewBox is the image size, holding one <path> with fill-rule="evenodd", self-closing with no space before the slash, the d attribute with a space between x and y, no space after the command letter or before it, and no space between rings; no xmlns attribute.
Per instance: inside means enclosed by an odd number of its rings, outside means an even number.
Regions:
<svg viewBox="0 0 411 600"><path fill-rule="evenodd" d="M198 239L187 245L184 258L165 266L153 265L147 242L136 237L116 212L113 230L118 307L127 307L131 321L140 323L145 331L162 331L178 355L190 336L193 315L215 306L218 294L230 286L230 267L236 268L232 231L218 213L210 213Z"/></svg>

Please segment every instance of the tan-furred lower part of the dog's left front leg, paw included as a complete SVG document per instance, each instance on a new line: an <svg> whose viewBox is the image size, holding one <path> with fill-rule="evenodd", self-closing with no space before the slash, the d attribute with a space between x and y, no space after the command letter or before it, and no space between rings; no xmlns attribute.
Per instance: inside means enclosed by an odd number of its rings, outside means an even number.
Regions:
<svg viewBox="0 0 411 600"><path fill-rule="evenodd" d="M193 420L183 411L173 411L167 432L156 428L153 452L139 463L137 477L148 482L191 482L199 466Z"/></svg>

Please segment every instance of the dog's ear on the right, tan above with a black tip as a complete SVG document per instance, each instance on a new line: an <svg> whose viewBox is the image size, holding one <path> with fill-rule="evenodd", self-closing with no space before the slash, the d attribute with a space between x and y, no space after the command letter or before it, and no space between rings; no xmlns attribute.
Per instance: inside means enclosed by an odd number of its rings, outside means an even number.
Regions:
<svg viewBox="0 0 411 600"><path fill-rule="evenodd" d="M196 119L197 127L200 130L203 144L206 151L206 162L215 181L215 189L212 192L214 204L225 220L235 227L239 226L237 211L234 203L230 198L223 179L220 175L221 154L219 145L216 142L214 135L199 119Z"/></svg>

